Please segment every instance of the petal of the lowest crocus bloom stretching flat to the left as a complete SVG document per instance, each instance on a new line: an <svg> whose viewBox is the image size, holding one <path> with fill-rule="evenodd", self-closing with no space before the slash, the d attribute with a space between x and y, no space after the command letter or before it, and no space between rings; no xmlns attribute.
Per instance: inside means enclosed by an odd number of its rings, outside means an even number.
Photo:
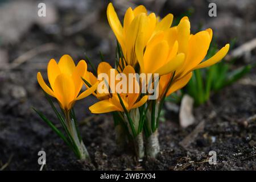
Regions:
<svg viewBox="0 0 256 182"><path fill-rule="evenodd" d="M109 100L96 102L89 107L89 110L94 114L109 113L112 111L119 111L118 107L112 104Z"/></svg>

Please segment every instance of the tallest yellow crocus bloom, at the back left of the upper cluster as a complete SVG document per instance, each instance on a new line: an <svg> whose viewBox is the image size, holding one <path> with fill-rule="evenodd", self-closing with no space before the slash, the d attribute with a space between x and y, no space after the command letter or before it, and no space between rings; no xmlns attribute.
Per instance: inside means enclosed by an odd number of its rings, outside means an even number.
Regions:
<svg viewBox="0 0 256 182"><path fill-rule="evenodd" d="M137 63L135 43L138 35L141 36L142 44L146 45L156 33L167 30L171 26L173 19L173 15L168 14L159 21L154 13L147 15L146 8L141 5L134 10L131 7L127 9L122 26L112 3L108 5L107 16L109 25L121 45L127 64L133 67Z"/></svg>

